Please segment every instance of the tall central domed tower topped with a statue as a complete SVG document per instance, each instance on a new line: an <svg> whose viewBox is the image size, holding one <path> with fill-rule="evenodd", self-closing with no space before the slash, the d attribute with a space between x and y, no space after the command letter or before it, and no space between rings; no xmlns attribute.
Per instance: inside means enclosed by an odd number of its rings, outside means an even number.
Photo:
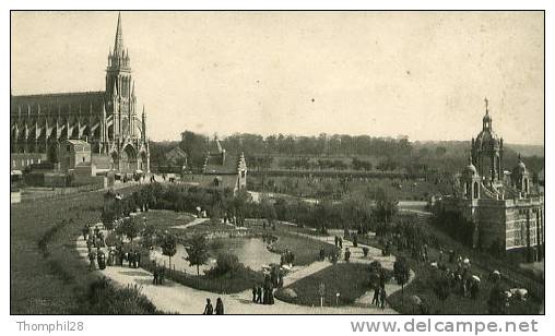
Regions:
<svg viewBox="0 0 555 336"><path fill-rule="evenodd" d="M500 184L503 170L503 137L499 139L492 128L488 100L485 100L486 113L482 119L482 131L476 139L472 139L472 163L477 167L477 173L489 184Z"/></svg>

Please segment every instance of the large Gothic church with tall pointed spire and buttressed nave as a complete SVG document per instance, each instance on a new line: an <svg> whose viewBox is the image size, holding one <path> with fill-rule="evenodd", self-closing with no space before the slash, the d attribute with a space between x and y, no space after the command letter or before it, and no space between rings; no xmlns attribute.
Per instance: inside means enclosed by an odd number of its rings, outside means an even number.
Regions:
<svg viewBox="0 0 555 336"><path fill-rule="evenodd" d="M105 85L104 91L96 92L11 96L12 167L24 168L42 160L60 167L60 152L83 142L91 148L91 159L83 158L79 166L92 166L93 175L102 170L150 171L146 113L144 107L141 113L137 110L120 15Z"/></svg>

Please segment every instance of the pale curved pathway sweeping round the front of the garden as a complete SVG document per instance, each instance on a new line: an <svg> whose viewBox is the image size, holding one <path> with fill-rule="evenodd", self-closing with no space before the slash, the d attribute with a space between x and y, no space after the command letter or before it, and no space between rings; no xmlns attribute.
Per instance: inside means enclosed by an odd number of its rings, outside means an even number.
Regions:
<svg viewBox="0 0 555 336"><path fill-rule="evenodd" d="M102 224L98 224L102 225ZM329 242L333 237L318 237L305 233L298 233L310 239L319 239ZM343 240L343 247L351 250L351 262L370 263L378 260L383 267L392 268L394 262L393 256L381 256L381 251L368 247L370 252L369 257L364 257L362 254L362 244L357 248L352 245L352 242ZM88 263L87 248L83 237L76 240L76 250L81 257ZM290 273L284 277L284 286L288 286L296 280L315 274L326 267L331 266L330 262L315 262L308 266L300 267L296 272ZM219 295L210 291L199 290L177 284L175 281L166 280L164 285L152 284L153 275L142 268L129 268L120 266L108 266L106 269L96 271L99 274L110 278L116 284L127 286L139 286L141 292L146 296L157 309L168 313L179 314L201 314L206 298L215 302L216 298L222 298L226 314L395 314L397 312L391 308L379 309L371 305L371 298L374 290L367 291L358 298L353 305L343 307L306 307L297 305L275 299L275 304L264 305L257 304L251 301L252 295L250 290L245 290L238 293ZM411 278L414 278L414 273L411 271ZM401 287L397 284L386 284L386 291L388 295L400 290Z"/></svg>

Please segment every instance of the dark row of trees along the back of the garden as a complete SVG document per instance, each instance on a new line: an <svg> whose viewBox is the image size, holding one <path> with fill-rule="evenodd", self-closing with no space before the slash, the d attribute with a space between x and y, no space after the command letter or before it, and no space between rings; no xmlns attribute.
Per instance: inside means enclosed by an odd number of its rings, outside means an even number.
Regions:
<svg viewBox="0 0 555 336"><path fill-rule="evenodd" d="M309 204L299 200L269 200L260 204L252 202L246 191L235 195L229 190L205 189L181 184L149 184L141 193L150 200L150 208L197 212L208 209L211 218L235 216L238 223L244 218L293 221L299 225L321 228L357 228L359 225L376 228L378 224L391 224L398 212L397 200L382 190L376 194L376 204L362 196L349 196L341 202L323 201Z"/></svg>

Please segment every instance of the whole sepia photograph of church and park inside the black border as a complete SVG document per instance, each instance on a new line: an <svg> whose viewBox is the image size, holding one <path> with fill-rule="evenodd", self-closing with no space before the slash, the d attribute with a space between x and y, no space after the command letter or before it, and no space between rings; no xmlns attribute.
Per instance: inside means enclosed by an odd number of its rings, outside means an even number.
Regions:
<svg viewBox="0 0 555 336"><path fill-rule="evenodd" d="M11 315L545 314L545 11L12 10L9 50Z"/></svg>

